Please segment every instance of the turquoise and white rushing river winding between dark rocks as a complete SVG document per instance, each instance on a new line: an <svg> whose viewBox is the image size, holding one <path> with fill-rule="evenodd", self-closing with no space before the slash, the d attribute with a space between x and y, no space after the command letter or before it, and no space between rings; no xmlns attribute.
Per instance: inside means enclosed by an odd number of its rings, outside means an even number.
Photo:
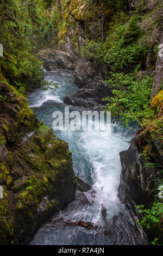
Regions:
<svg viewBox="0 0 163 256"><path fill-rule="evenodd" d="M63 99L78 90L73 84L70 72L45 72L45 80L58 83L58 88L36 89L28 95L30 107L37 118L52 127L54 111L64 111ZM70 111L77 109L70 106ZM79 109L82 111L83 109ZM121 163L119 153L126 150L130 140L130 127L121 129L121 124L111 125L111 135L101 136L100 131L57 131L55 135L67 142L72 152L73 169L76 175L92 185L92 192L77 192L77 200L65 210L55 214L52 222L43 224L37 231L32 245L105 245L108 241L95 230L80 227L65 227L58 220L60 217L78 221L84 216L85 221L103 227L101 208L107 209L107 220L118 214L123 205L118 199ZM93 216L93 217L92 217ZM59 224L58 224L59 223Z"/></svg>

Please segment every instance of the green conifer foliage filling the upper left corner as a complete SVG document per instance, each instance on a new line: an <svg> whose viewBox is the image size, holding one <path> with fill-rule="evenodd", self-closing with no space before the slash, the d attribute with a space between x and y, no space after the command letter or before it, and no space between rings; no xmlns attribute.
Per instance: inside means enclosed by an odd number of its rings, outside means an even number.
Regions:
<svg viewBox="0 0 163 256"><path fill-rule="evenodd" d="M41 63L32 50L39 46L39 41L52 38L54 22L43 9L41 0L2 0L0 10L0 35L4 50L0 72L24 94L25 87L41 83Z"/></svg>

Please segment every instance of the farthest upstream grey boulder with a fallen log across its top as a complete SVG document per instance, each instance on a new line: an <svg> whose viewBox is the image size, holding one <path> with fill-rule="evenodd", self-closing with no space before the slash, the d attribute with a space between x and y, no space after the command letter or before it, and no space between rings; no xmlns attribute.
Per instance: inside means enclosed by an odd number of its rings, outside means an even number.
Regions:
<svg viewBox="0 0 163 256"><path fill-rule="evenodd" d="M43 62L43 66L46 71L53 71L57 69L74 69L74 63L70 54L55 51L53 48L41 50L37 53L39 60Z"/></svg>

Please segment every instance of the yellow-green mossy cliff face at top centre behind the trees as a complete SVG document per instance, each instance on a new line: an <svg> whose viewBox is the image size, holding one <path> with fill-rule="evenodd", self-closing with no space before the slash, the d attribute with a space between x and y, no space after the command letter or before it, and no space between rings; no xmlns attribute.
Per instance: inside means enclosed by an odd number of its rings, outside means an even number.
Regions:
<svg viewBox="0 0 163 256"><path fill-rule="evenodd" d="M127 3L127 1L124 1ZM53 47L69 53L74 62L84 58L80 56L80 48L85 40L101 38L102 30L109 27L110 17L115 14L114 7L103 1L52 1L48 9L57 27L57 38ZM102 16L105 16L102 28Z"/></svg>

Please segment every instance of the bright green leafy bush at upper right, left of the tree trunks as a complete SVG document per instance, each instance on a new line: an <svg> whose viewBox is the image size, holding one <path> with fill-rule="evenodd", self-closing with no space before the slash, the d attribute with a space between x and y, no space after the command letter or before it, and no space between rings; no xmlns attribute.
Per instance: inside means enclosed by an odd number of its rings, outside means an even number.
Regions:
<svg viewBox="0 0 163 256"><path fill-rule="evenodd" d="M124 16L124 15L123 15ZM104 47L107 51L104 61L112 70L122 69L124 66L135 66L137 63L145 65L148 44L139 44L143 32L139 26L139 16L128 16L120 23L117 15L115 23L111 24L109 36L106 38Z"/></svg>

